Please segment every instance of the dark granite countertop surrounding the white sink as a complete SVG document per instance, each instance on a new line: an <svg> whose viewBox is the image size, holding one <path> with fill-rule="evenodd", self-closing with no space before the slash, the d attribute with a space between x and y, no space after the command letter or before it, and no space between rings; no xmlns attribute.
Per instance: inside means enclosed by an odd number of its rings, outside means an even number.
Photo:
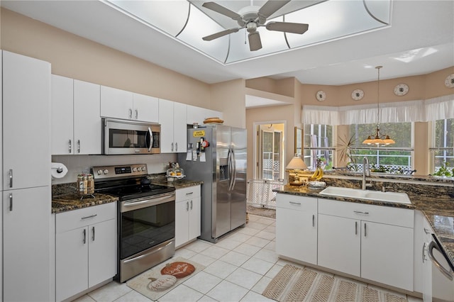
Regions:
<svg viewBox="0 0 454 302"><path fill-rule="evenodd" d="M367 201L354 198L342 198L333 196L321 196L321 190L309 189L306 186L281 186L273 191L283 194L298 196L311 196L317 198L334 199L338 201L348 201L356 203L368 203L379 206L392 206L397 208L409 208L421 211L431 223L438 240L448 254L451 263L454 265L454 200L449 197L431 198L409 194L411 205L403 203L389 203L383 201Z"/></svg>

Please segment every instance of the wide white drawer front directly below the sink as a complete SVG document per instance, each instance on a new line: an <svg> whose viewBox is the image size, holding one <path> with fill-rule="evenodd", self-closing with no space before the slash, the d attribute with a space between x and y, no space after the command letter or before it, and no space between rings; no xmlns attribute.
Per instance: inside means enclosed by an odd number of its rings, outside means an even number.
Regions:
<svg viewBox="0 0 454 302"><path fill-rule="evenodd" d="M319 213L414 228L414 210L319 198Z"/></svg>

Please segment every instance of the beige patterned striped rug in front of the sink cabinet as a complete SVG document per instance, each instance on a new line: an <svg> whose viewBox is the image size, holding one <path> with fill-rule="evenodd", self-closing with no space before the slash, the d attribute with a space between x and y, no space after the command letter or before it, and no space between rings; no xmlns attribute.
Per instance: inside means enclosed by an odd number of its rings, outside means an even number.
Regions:
<svg viewBox="0 0 454 302"><path fill-rule="evenodd" d="M367 287L338 276L287 264L270 281L263 296L276 301L406 302L405 296Z"/></svg>

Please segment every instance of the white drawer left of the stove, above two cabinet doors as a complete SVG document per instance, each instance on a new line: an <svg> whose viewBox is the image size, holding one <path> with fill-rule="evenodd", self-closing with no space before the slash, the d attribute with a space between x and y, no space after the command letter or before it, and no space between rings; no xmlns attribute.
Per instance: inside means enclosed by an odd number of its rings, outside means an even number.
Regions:
<svg viewBox="0 0 454 302"><path fill-rule="evenodd" d="M55 232L63 233L114 218L116 218L116 202L57 213L55 215Z"/></svg>

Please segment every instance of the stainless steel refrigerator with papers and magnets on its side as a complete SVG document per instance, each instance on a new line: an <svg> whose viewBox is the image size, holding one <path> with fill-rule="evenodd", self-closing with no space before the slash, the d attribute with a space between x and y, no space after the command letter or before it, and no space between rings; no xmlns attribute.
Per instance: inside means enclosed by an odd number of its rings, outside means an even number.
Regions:
<svg viewBox="0 0 454 302"><path fill-rule="evenodd" d="M178 163L187 179L200 180L201 235L218 238L246 223L246 130L204 125L187 130L187 153Z"/></svg>

